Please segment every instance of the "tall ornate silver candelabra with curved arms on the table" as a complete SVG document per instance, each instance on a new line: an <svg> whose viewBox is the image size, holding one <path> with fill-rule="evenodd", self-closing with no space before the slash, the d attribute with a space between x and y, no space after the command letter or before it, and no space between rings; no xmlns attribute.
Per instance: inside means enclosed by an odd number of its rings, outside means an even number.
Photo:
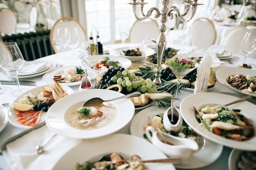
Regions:
<svg viewBox="0 0 256 170"><path fill-rule="evenodd" d="M133 2L128 3L130 5L132 5L132 10L133 13L135 15L135 17L138 20L145 20L146 18L148 18L153 11L156 11L157 14L155 15L155 18L160 17L160 21L161 21L161 25L159 26L159 31L160 31L160 35L157 38L156 44L157 44L157 68L155 70L155 79L153 80L154 83L162 83L161 81L161 71L162 71L162 58L164 55L164 50L166 48L166 44L167 44L167 40L166 40L166 36L164 34L164 32L167 29L166 26L166 22L167 22L167 17L170 19L173 19L173 11L175 11L177 13L177 17L182 21L182 22L187 22L189 20L191 20L191 18L195 15L195 11L197 9L198 5L198 0L184 0L182 1L182 3L185 4L186 10L183 14L180 14L180 10L175 7L172 6L170 8L168 8L168 4L170 2L170 0L162 0L162 9L161 12L159 11L159 9L157 9L156 7L152 7L148 10L147 14L144 14L143 8L145 4L148 4L146 2L144 2L144 0L140 0L141 2L137 2L137 0L132 0ZM137 5L140 5L141 9L141 14L143 17L138 17L137 13L136 13L136 7ZM192 6L192 15L188 18L185 19L184 17L189 13L189 10L191 9Z"/></svg>

